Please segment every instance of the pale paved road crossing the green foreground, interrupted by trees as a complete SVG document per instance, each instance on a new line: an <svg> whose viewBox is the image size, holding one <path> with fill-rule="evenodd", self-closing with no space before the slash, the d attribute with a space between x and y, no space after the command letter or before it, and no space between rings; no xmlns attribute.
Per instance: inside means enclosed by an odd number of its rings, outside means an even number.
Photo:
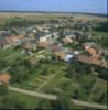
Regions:
<svg viewBox="0 0 108 110"><path fill-rule="evenodd" d="M55 96L55 95L41 94L41 92L30 91L30 90L15 88L15 87L11 87L11 86L9 86L9 90L18 91L18 92L21 92L21 94L30 95L30 96L33 96L33 97L40 97L40 98L44 98L44 99L48 99L48 100L57 100L57 96ZM71 101L73 103L79 105L79 106L85 106L85 107L91 107L91 108L107 110L107 106L106 105L93 103L93 102L75 100L75 99L72 99Z"/></svg>

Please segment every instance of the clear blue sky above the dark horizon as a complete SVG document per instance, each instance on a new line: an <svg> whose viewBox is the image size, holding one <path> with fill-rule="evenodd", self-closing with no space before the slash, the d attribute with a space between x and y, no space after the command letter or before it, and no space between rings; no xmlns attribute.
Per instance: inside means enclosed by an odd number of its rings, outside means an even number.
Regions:
<svg viewBox="0 0 108 110"><path fill-rule="evenodd" d="M107 0L0 0L0 10L107 13Z"/></svg>

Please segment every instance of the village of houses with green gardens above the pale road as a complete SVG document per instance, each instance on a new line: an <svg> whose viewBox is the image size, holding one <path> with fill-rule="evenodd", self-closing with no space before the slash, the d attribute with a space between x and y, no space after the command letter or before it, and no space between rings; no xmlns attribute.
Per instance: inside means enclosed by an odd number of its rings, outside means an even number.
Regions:
<svg viewBox="0 0 108 110"><path fill-rule="evenodd" d="M94 34L94 26L97 24L97 20L94 22L69 20L68 22L53 21L53 23L44 22L28 28L15 26L0 30L0 85L7 85L12 91L20 88L56 96L62 91L66 92L65 88L68 90L74 88L69 90L71 98L96 102L99 106L106 105L108 50L102 48L95 40L95 37L102 37ZM26 66L23 67L23 65ZM83 65L87 67L83 67ZM73 69L74 67L76 72ZM99 69L105 72L99 73ZM75 73L78 74L75 75ZM36 76L37 78L34 78ZM84 89L88 91L79 87L83 76L88 77L87 79L85 77L83 84ZM86 80L89 79L89 85L87 85ZM104 85L104 88L100 88L99 85L95 87L95 84ZM78 91L78 88L84 91L84 95ZM100 90L100 96L97 96L99 99L94 98L96 92L93 89ZM104 89L105 91L101 91ZM89 95L87 96L87 94ZM73 105L77 105L77 102L73 101ZM100 106L100 108L104 107L106 108L106 106Z"/></svg>

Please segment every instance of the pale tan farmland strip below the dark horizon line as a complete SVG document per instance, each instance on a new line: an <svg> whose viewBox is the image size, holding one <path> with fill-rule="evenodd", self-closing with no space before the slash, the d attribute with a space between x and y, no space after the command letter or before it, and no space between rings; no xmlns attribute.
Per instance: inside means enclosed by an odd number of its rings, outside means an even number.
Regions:
<svg viewBox="0 0 108 110"><path fill-rule="evenodd" d="M65 18L73 16L73 14L58 14L58 13L31 13L31 12L0 12L0 23L4 23L4 21L10 16L21 16L26 20L31 21L39 21L39 20L65 20ZM75 14L74 19L76 21L78 20L99 20L105 21L106 18L99 18L99 16L93 16L93 15L86 15L86 14Z"/></svg>

